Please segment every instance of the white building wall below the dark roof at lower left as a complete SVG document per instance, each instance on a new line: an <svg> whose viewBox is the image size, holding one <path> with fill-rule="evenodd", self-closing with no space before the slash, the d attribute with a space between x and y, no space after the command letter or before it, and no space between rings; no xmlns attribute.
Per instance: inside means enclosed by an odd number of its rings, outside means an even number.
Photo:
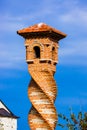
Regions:
<svg viewBox="0 0 87 130"><path fill-rule="evenodd" d="M17 119L0 117L0 130L17 130Z"/></svg>

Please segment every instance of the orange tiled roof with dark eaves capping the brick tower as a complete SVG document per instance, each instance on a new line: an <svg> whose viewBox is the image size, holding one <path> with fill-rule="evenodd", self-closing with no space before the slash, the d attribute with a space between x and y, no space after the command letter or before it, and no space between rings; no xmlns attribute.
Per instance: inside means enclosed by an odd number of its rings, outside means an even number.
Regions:
<svg viewBox="0 0 87 130"><path fill-rule="evenodd" d="M29 26L22 30L18 30L17 33L24 38L29 37L51 37L55 40L60 40L66 37L66 34L45 24L45 23L38 23L33 26Z"/></svg>

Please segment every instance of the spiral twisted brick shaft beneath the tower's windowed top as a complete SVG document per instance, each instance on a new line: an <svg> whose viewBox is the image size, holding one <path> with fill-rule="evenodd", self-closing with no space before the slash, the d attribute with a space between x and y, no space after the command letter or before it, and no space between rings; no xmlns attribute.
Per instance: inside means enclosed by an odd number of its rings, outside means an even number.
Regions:
<svg viewBox="0 0 87 130"><path fill-rule="evenodd" d="M54 130L57 122L57 113L54 106L56 98L56 83L53 74L49 71L33 71L28 88L28 96L32 103L29 112L31 130Z"/></svg>

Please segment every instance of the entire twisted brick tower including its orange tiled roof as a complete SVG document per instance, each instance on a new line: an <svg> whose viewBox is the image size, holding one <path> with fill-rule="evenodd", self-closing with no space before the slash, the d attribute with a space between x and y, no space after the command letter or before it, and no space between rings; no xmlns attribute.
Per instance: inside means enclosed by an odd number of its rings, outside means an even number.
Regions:
<svg viewBox="0 0 87 130"><path fill-rule="evenodd" d="M58 62L58 41L66 34L44 23L17 31L25 38L26 62L31 81L28 97L32 103L28 122L31 130L54 130L57 112L54 101L57 95L54 73Z"/></svg>

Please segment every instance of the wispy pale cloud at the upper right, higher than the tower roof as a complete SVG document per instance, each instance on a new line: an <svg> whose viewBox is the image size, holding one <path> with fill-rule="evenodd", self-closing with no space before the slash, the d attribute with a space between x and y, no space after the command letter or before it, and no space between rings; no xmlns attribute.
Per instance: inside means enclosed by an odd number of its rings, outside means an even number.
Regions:
<svg viewBox="0 0 87 130"><path fill-rule="evenodd" d="M67 24L76 24L87 27L87 9L77 8L70 10L60 16L60 19Z"/></svg>

